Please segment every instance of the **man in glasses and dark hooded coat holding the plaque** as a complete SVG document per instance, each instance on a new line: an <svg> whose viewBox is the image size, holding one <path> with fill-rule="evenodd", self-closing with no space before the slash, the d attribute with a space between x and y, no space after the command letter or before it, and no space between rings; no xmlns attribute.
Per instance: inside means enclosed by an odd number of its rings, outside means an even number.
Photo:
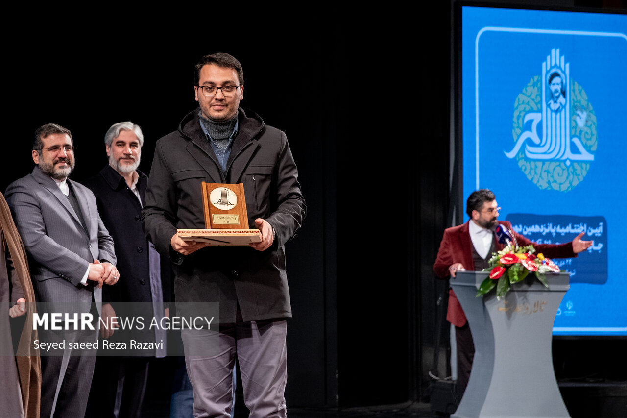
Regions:
<svg viewBox="0 0 627 418"><path fill-rule="evenodd" d="M285 318L292 309L283 245L306 212L297 167L285 133L239 107L243 71L233 56L204 56L194 92L199 109L155 145L143 211L149 240L174 263L177 305L219 304L210 329L182 331L194 414L229 415L238 358L251 417L284 417ZM203 181L243 183L248 219L241 223L258 228L261 242L219 247L179 236L177 229L206 228ZM219 350L197 355L192 346Z"/></svg>

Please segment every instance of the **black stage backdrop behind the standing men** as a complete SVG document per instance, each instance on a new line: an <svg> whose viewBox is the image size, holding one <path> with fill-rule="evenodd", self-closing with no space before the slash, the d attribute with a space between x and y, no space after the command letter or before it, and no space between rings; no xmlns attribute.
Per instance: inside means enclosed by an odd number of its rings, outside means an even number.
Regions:
<svg viewBox="0 0 627 418"><path fill-rule="evenodd" d="M196 107L194 64L231 53L241 105L286 132L308 206L287 244L288 405L418 400L447 285L431 265L450 226L451 6L435 3L416 19L194 8L14 21L3 29L0 190L33 169L33 132L49 122L73 134L73 180L107 163L103 136L125 120L144 131L149 173L154 142Z"/></svg>

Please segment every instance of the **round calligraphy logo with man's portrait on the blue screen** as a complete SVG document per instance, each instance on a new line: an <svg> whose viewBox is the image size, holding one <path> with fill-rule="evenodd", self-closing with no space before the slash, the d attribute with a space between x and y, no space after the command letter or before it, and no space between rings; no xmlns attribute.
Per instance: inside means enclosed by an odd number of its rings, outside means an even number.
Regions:
<svg viewBox="0 0 627 418"><path fill-rule="evenodd" d="M505 156L540 189L569 191L590 169L597 148L596 115L584 89L570 77L559 49L542 62L514 102L514 149Z"/></svg>

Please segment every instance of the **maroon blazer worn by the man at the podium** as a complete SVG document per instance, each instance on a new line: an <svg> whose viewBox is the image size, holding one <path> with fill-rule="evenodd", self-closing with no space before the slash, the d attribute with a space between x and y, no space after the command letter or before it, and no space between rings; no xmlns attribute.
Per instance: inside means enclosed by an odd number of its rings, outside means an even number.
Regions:
<svg viewBox="0 0 627 418"><path fill-rule="evenodd" d="M468 220L470 222L470 220ZM438 257L433 264L433 271L440 279L448 279L450 276L448 267L451 264L461 263L468 271L475 270L475 262L472 259L472 240L470 239L470 232L468 230L468 222L458 225L456 227L446 228L444 231L444 237L440 243L440 250L438 250ZM507 221L498 221L504 227L512 230L512 224ZM566 244L536 244L514 232L514 236L518 244L523 247L524 245L534 244L536 254L542 253L547 257L555 259L567 259L570 257L577 257L572 252L572 244L566 242ZM495 242L497 250L502 250L505 247L503 244ZM464 326L466 324L466 315L464 314L461 305L453 292L453 289L448 291L448 310L446 311L446 320L455 326Z"/></svg>

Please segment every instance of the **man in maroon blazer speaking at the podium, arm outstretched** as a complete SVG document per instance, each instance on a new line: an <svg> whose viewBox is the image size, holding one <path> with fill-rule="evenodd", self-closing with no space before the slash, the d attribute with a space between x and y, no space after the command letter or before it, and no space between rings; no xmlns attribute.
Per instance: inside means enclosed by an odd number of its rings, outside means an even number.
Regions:
<svg viewBox="0 0 627 418"><path fill-rule="evenodd" d="M511 230L512 225L507 221L498 221L500 208L494 193L488 189L473 191L466 201L466 213L470 217L468 222L456 227L447 228L440 243L438 257L433 264L433 271L441 279L455 277L456 272L463 270L479 271L488 267L488 260L492 253L503 249L498 244L493 230L500 223ZM579 252L587 249L593 241L582 241L584 233L580 233L572 242L566 244L535 244L527 238L512 231L518 244L534 244L537 253L547 257L563 259L577 257ZM446 320L455 325L455 340L457 345L457 390L463 394L470 378L470 369L475 355L470 328L466 316L452 289L448 291L448 311Z"/></svg>

